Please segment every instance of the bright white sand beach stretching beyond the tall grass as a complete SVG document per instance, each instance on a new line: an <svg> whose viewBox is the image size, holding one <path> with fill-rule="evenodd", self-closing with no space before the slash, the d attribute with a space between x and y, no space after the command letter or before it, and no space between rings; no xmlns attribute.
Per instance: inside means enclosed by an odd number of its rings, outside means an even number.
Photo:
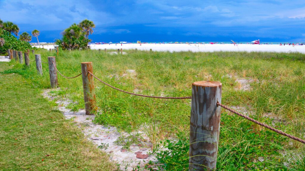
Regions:
<svg viewBox="0 0 305 171"><path fill-rule="evenodd" d="M37 47L37 46L36 46ZM45 45L45 49L54 48L54 45ZM246 52L299 52L305 54L305 45L282 45L279 44L91 44L91 49L135 49L149 51L246 51Z"/></svg>

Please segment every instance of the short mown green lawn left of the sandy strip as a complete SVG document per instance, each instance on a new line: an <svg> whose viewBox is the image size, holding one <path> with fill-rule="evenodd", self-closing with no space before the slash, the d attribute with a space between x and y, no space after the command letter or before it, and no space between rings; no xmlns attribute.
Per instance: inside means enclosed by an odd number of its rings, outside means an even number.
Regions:
<svg viewBox="0 0 305 171"><path fill-rule="evenodd" d="M0 75L0 170L115 170L27 78Z"/></svg>

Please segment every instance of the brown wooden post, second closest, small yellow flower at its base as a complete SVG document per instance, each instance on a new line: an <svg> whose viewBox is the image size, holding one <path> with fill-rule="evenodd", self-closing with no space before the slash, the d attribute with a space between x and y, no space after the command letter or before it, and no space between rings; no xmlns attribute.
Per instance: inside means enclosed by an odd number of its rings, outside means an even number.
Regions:
<svg viewBox="0 0 305 171"><path fill-rule="evenodd" d="M88 71L93 73L92 62L82 62L81 73L83 78L86 115L91 115L93 114L93 111L96 111L96 102L93 76L89 74Z"/></svg>

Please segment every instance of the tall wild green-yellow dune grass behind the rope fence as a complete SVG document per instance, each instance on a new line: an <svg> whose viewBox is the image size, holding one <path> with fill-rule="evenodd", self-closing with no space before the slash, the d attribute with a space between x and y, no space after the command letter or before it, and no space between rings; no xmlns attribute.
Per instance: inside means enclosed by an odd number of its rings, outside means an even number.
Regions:
<svg viewBox="0 0 305 171"><path fill-rule="evenodd" d="M280 118L275 128L303 138L305 120L305 55L299 53L246 53L246 52L147 52L126 51L126 55L110 55L98 51L60 51L56 58L57 68L66 76L81 72L80 63L93 62L96 76L120 89L154 96L190 96L195 81L214 80L223 85L222 103L228 106L246 107L251 117L267 124L271 118L264 113ZM56 56L41 50L42 61ZM33 60L33 55L30 60ZM23 75L30 86L38 89L50 88L48 65L43 64L43 76L36 74L35 64L25 68L14 62L12 70L4 73ZM124 77L127 69L136 71L137 76ZM227 75L233 75L232 78ZM254 80L250 91L238 90L236 78ZM77 103L69 106L73 110L84 108L81 77L65 79L58 76L62 96ZM190 100L151 99L131 96L113 90L95 80L97 103L102 111L96 123L108 124L127 132L137 130L144 124L153 147L159 140L178 136L188 139ZM303 149L299 142L266 130L222 109L219 141L219 170L260 170L280 168L287 170L295 166L289 157L281 153L298 152ZM290 156L290 155L289 155ZM258 162L264 157L263 162ZM284 162L291 165L286 167ZM187 164L187 163L183 163Z"/></svg>

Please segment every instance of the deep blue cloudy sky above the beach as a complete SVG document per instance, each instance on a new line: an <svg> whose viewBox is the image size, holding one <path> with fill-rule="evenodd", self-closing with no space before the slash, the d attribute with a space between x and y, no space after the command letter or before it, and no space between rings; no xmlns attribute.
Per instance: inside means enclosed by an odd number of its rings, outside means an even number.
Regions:
<svg viewBox="0 0 305 171"><path fill-rule="evenodd" d="M83 19L96 25L93 42L305 42L304 0L0 0L0 19L40 30L41 42Z"/></svg>

